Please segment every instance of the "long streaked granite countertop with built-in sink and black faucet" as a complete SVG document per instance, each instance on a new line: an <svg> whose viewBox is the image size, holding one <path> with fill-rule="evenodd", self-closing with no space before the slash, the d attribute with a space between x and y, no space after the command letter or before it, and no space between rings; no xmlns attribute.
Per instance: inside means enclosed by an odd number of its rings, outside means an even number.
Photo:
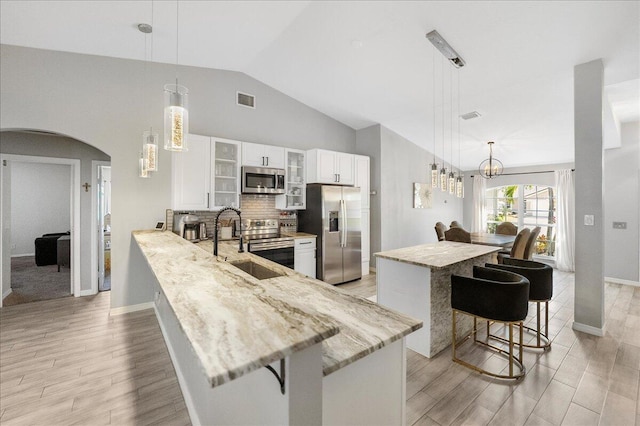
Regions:
<svg viewBox="0 0 640 426"><path fill-rule="evenodd" d="M134 231L133 237L212 386L318 342L328 375L422 326L292 269L238 253L235 241L219 244L216 261L210 240L192 244L157 231ZM282 276L258 280L229 263L242 259Z"/></svg>

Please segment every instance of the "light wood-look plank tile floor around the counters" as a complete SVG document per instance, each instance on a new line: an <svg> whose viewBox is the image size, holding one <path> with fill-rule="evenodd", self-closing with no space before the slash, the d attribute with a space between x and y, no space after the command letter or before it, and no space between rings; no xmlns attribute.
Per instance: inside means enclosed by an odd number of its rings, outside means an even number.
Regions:
<svg viewBox="0 0 640 426"><path fill-rule="evenodd" d="M525 351L525 379L408 350L407 425L640 426L640 288L606 284L598 338L571 329L574 275L554 274L553 347ZM374 296L375 275L339 288ZM504 367L465 345L467 359ZM109 293L0 309L0 424L190 424L154 312L110 317Z"/></svg>

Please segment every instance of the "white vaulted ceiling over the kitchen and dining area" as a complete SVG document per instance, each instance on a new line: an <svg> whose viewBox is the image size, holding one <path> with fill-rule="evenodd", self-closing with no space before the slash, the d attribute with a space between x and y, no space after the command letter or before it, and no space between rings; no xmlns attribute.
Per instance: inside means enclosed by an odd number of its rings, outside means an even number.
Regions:
<svg viewBox="0 0 640 426"><path fill-rule="evenodd" d="M460 146L469 170L489 140L505 166L573 161L577 64L604 63L608 129L637 121L639 4L3 0L0 42L144 60L137 24L153 23L155 62L175 63L178 39L180 64L241 71L354 129L380 123L430 152L435 133L436 154L444 145L457 166ZM444 62L425 38L433 29L466 66ZM481 116L459 122L458 145L458 112L470 111Z"/></svg>

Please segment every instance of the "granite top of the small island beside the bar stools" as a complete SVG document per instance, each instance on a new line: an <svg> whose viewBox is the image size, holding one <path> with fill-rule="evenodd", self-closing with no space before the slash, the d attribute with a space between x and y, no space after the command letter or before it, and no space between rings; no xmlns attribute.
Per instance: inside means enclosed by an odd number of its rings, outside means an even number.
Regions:
<svg viewBox="0 0 640 426"><path fill-rule="evenodd" d="M455 243L453 241L439 241L437 243L422 244L396 250L374 253L376 257L442 269L464 260L501 250L500 247L483 246L480 244Z"/></svg>

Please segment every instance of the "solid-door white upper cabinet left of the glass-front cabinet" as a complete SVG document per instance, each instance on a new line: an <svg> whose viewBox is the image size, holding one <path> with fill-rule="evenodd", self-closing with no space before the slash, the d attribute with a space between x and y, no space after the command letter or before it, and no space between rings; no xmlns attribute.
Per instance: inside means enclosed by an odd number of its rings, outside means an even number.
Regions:
<svg viewBox="0 0 640 426"><path fill-rule="evenodd" d="M188 151L171 153L171 206L174 210L207 210L212 188L211 138L188 138Z"/></svg>

